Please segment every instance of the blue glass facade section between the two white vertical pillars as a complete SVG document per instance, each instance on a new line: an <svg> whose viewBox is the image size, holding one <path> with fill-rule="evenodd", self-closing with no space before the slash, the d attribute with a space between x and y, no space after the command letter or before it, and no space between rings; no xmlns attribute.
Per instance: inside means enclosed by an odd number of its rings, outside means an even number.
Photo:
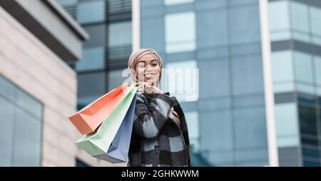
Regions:
<svg viewBox="0 0 321 181"><path fill-rule="evenodd" d="M199 68L196 99L180 98L195 165L268 165L257 0L141 0L141 46Z"/></svg>

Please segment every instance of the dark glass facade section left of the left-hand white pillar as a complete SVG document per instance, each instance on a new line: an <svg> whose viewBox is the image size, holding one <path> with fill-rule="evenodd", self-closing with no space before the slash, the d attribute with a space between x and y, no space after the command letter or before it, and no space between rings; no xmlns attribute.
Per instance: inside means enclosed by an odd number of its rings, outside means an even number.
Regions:
<svg viewBox="0 0 321 181"><path fill-rule="evenodd" d="M58 1L91 36L83 58L69 63L78 74L78 109L119 86L131 53L131 0Z"/></svg>

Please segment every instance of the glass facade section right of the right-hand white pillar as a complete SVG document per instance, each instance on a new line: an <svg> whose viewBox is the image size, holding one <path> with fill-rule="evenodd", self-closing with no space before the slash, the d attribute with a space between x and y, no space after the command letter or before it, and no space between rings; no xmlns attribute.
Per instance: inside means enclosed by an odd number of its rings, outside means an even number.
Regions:
<svg viewBox="0 0 321 181"><path fill-rule="evenodd" d="M269 9L280 165L320 166L321 1Z"/></svg>

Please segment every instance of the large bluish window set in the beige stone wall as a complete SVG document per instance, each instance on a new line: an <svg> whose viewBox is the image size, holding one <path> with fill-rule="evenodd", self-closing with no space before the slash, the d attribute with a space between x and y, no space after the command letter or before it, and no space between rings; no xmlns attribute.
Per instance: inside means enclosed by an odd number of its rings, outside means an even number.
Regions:
<svg viewBox="0 0 321 181"><path fill-rule="evenodd" d="M0 166L40 166L39 101L0 76Z"/></svg>

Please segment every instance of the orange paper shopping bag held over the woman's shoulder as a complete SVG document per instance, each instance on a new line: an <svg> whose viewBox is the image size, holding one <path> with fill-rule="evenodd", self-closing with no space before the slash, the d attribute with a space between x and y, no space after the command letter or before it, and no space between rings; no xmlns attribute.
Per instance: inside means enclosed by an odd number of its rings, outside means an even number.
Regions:
<svg viewBox="0 0 321 181"><path fill-rule="evenodd" d="M121 103L121 100L123 100L129 90L131 88L126 84L119 86L86 105L85 108L69 117L69 120L71 120L81 134L92 133L103 123L103 120L108 118L116 106Z"/></svg>

